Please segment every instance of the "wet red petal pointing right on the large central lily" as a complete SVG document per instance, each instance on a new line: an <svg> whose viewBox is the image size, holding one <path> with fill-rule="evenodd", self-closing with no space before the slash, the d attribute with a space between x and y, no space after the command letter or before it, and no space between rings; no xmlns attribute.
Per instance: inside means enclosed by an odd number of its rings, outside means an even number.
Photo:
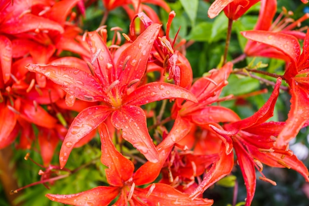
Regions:
<svg viewBox="0 0 309 206"><path fill-rule="evenodd" d="M182 98L197 102L196 97L187 89L165 82L151 82L142 85L130 93L125 104L143 105L163 99Z"/></svg>

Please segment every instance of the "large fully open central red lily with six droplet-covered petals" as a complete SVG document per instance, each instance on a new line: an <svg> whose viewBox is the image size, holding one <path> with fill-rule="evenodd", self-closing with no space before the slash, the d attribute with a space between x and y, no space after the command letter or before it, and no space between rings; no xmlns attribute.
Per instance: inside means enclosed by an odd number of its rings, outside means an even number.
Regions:
<svg viewBox="0 0 309 206"><path fill-rule="evenodd" d="M152 82L138 87L159 29L158 24L148 27L121 52L115 62L102 38L96 32L90 32L91 73L74 67L27 66L30 71L43 74L62 85L70 95L85 101L103 102L102 105L80 112L71 124L60 151L61 167L66 164L72 146L110 114L114 126L122 129L125 140L132 143L151 162L158 161L158 153L148 133L145 113L137 105L168 98L196 101L189 91L164 82Z"/></svg>

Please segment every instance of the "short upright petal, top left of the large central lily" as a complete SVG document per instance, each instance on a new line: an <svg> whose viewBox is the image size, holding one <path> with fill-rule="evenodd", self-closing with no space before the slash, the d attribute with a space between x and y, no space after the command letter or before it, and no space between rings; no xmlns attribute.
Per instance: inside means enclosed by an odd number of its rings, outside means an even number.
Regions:
<svg viewBox="0 0 309 206"><path fill-rule="evenodd" d="M111 52L97 32L89 32L88 37L95 76L103 87L108 87L117 78Z"/></svg>

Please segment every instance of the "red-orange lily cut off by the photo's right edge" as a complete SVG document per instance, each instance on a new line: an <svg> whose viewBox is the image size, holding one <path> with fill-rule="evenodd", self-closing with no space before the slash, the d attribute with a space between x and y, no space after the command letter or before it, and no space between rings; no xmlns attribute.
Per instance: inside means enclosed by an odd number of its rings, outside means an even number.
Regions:
<svg viewBox="0 0 309 206"><path fill-rule="evenodd" d="M293 139L309 120L307 109L309 101L307 83L309 31L307 30L302 53L298 40L288 34L267 31L247 31L242 32L242 35L247 39L270 45L289 58L289 64L284 78L290 86L291 109L286 120L286 125L278 135L276 141L277 146L281 147Z"/></svg>

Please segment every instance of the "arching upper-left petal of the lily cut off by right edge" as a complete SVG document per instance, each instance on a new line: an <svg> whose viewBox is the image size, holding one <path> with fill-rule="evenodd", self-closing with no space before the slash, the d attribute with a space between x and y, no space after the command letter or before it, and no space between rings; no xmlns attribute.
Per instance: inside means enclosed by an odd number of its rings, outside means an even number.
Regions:
<svg viewBox="0 0 309 206"><path fill-rule="evenodd" d="M300 56L300 44L298 40L287 34L269 32L269 31L246 31L240 32L242 36L249 40L265 43L267 45L273 46L285 53L293 64L296 65L297 60Z"/></svg>

